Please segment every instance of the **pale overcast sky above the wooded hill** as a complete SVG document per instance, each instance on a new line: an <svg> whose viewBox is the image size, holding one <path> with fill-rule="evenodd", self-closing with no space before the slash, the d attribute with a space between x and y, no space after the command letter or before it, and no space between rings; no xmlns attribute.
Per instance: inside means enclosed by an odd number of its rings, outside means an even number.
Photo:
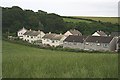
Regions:
<svg viewBox="0 0 120 80"><path fill-rule="evenodd" d="M0 0L0 6L19 6L61 16L118 16L119 0Z"/></svg>

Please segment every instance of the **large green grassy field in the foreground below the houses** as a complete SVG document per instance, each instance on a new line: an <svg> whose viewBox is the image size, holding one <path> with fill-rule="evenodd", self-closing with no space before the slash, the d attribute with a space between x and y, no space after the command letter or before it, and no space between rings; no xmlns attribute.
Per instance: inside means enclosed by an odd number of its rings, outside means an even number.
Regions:
<svg viewBox="0 0 120 80"><path fill-rule="evenodd" d="M117 78L118 55L74 53L3 41L3 78Z"/></svg>

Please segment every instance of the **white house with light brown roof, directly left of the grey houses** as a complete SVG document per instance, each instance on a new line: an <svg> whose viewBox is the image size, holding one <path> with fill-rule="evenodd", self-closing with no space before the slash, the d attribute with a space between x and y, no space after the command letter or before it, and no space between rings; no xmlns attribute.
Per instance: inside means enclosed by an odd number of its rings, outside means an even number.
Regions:
<svg viewBox="0 0 120 80"><path fill-rule="evenodd" d="M42 44L49 46L62 46L66 37L62 34L47 33L42 38Z"/></svg>

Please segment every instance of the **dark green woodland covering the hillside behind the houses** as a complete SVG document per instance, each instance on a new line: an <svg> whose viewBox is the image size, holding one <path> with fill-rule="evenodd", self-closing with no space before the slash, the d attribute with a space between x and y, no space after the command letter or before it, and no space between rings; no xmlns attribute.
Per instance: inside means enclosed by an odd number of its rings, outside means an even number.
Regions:
<svg viewBox="0 0 120 80"><path fill-rule="evenodd" d="M3 34L16 34L16 32L25 27L27 29L43 30L44 32L64 33L70 29L77 29L84 35L90 35L96 30L102 30L106 33L118 31L119 24L110 22L94 21L90 19L74 18L80 20L91 21L87 22L66 22L63 16L54 13L47 13L42 10L34 12L32 10L23 10L18 6L11 8L2 7L2 29ZM73 18L73 17L67 17Z"/></svg>

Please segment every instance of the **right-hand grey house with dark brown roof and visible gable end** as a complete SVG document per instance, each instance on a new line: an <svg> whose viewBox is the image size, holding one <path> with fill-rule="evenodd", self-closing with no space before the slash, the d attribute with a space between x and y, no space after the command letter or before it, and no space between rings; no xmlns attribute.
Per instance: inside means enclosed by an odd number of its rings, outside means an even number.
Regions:
<svg viewBox="0 0 120 80"><path fill-rule="evenodd" d="M116 41L114 37L88 36L85 40L85 49L91 51L115 51Z"/></svg>

